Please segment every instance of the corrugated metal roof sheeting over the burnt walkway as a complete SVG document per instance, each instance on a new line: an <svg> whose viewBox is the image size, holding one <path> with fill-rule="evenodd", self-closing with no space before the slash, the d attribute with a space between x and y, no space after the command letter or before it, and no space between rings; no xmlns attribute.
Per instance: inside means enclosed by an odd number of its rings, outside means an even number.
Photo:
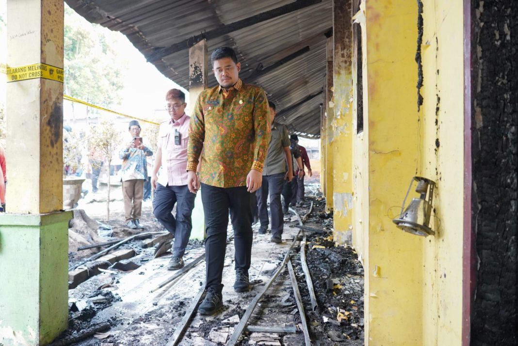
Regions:
<svg viewBox="0 0 518 346"><path fill-rule="evenodd" d="M247 19L294 0L66 0L92 23L120 31L142 54ZM332 27L332 1L323 0L280 17L208 40L209 53L233 47L241 63L240 77L262 86L274 101L281 123L303 137L320 137L320 106L326 73L326 36ZM309 51L258 78L254 73L305 47ZM189 51L182 50L153 64L166 77L189 88ZM217 82L210 73L209 85ZM320 93L320 94L319 94ZM314 96L307 100L309 96ZM307 100L301 103L301 101ZM299 106L297 106L299 104ZM297 106L297 107L294 107Z"/></svg>

